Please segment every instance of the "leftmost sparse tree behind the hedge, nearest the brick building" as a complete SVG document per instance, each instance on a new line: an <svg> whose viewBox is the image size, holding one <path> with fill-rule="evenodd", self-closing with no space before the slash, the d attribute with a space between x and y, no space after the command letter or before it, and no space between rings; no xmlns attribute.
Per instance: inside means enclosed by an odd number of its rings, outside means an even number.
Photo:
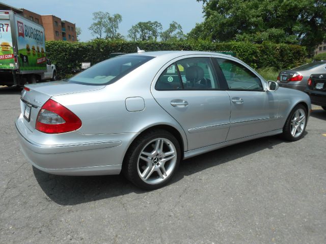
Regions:
<svg viewBox="0 0 326 244"><path fill-rule="evenodd" d="M110 13L98 11L93 13L93 20L94 22L89 29L96 38L110 40L123 38L123 36L117 32L119 23L122 21L122 16L120 14L111 16Z"/></svg>

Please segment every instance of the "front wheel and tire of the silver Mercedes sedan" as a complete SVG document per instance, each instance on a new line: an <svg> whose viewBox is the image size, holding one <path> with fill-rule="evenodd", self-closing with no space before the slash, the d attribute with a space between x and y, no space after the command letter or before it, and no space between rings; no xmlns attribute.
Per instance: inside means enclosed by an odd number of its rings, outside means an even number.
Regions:
<svg viewBox="0 0 326 244"><path fill-rule="evenodd" d="M288 141L297 141L303 137L306 126L307 109L304 105L298 104L285 121L282 137Z"/></svg>

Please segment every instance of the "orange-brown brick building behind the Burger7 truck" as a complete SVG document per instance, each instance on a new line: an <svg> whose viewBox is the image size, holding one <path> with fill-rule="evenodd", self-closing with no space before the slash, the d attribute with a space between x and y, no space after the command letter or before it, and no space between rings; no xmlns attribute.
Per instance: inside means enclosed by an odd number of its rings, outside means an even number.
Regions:
<svg viewBox="0 0 326 244"><path fill-rule="evenodd" d="M0 3L0 10L11 10L30 19L40 25L43 25L46 41L68 41L77 40L76 25L55 15L39 15L27 9L17 9L15 7Z"/></svg>

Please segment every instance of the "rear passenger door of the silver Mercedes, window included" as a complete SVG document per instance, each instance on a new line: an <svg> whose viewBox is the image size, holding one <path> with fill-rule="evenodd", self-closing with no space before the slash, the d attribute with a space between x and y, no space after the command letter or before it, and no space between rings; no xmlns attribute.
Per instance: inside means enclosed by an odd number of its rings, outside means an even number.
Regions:
<svg viewBox="0 0 326 244"><path fill-rule="evenodd" d="M226 140L230 97L221 87L209 55L171 61L154 78L151 92L183 128L188 150Z"/></svg>

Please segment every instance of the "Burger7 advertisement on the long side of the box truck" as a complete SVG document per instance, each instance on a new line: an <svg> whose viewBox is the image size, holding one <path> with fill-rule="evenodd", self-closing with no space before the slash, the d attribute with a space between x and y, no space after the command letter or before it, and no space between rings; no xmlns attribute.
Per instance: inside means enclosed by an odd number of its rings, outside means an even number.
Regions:
<svg viewBox="0 0 326 244"><path fill-rule="evenodd" d="M17 15L15 23L20 70L46 70L44 29Z"/></svg>

